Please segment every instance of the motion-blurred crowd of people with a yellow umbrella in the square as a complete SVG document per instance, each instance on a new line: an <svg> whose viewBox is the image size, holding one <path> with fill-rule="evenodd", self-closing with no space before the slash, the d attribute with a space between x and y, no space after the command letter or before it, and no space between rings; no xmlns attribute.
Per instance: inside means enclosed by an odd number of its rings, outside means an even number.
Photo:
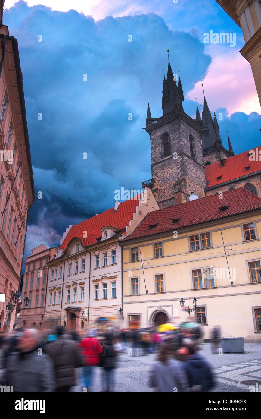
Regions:
<svg viewBox="0 0 261 419"><path fill-rule="evenodd" d="M105 329L105 330L104 330ZM220 331L212 330L212 353L217 353ZM155 353L148 385L155 391L210 391L210 365L198 354L199 325L161 325L157 328L90 328L85 336L58 326L55 331L17 329L0 336L0 385L17 392L69 392L82 384L92 391L94 371L102 368L102 391L115 391L120 354ZM81 368L80 374L77 368Z"/></svg>

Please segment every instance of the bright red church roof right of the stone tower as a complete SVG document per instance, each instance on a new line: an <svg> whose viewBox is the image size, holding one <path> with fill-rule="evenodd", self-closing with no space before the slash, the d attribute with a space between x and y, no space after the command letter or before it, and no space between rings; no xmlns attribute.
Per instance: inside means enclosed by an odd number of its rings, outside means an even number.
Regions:
<svg viewBox="0 0 261 419"><path fill-rule="evenodd" d="M261 150L261 146L256 148L258 149L258 151ZM256 148L252 149L255 152L255 158ZM261 161L249 160L249 151L244 151L244 153L240 153L227 158L225 166L221 166L221 163L219 161L210 164L209 166L206 166L206 181L209 182L207 187L210 188L211 186L223 184L224 182L228 181L233 181L233 179L241 178L241 176L250 176L255 172L261 171ZM246 171L246 167L248 166L250 166L250 170ZM217 177L219 176L221 176L221 179L217 179Z"/></svg>

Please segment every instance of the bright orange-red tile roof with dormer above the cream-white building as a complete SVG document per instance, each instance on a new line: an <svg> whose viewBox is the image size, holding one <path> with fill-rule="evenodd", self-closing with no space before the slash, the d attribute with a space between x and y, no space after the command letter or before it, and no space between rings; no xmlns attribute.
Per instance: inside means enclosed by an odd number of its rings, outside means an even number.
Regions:
<svg viewBox="0 0 261 419"><path fill-rule="evenodd" d="M121 202L116 211L113 207L95 215L95 217L73 225L60 247L66 249L69 241L74 237L79 237L83 246L97 243L96 238L102 236L100 230L104 226L113 227L115 230L125 229L126 226L130 225L130 220L133 219L133 212L136 212L136 207L139 205L139 197L140 195L137 195L137 197L134 197L135 199ZM87 231L87 237L85 238L83 237L84 231Z"/></svg>

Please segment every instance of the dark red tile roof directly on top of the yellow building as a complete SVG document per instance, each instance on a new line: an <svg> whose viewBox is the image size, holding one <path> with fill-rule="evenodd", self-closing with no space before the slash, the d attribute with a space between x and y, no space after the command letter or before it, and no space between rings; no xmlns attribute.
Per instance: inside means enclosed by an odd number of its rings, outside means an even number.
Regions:
<svg viewBox="0 0 261 419"><path fill-rule="evenodd" d="M228 209L220 212L220 207ZM261 209L261 199L252 194L245 188L233 189L223 192L223 198L219 198L219 194L210 195L209 197L195 199L194 201L185 202L184 204L174 205L174 207L162 208L157 211L149 212L143 219L141 224L134 232L124 241L133 238L139 238L166 231L178 230L179 228L197 225L203 222L218 220L244 212ZM172 220L179 221L174 224ZM155 225L154 229L150 229L150 225Z"/></svg>

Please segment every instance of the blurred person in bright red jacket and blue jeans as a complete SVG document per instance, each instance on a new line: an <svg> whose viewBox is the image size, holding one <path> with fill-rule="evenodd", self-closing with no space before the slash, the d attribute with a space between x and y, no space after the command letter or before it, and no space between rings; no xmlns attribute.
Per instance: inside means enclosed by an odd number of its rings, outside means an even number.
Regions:
<svg viewBox="0 0 261 419"><path fill-rule="evenodd" d="M102 353L100 342L95 339L94 330L89 330L87 332L87 337L79 342L79 348L82 350L82 356L84 359L82 377L84 387L87 387L87 391L91 391L93 370L95 365L100 364L100 357Z"/></svg>

